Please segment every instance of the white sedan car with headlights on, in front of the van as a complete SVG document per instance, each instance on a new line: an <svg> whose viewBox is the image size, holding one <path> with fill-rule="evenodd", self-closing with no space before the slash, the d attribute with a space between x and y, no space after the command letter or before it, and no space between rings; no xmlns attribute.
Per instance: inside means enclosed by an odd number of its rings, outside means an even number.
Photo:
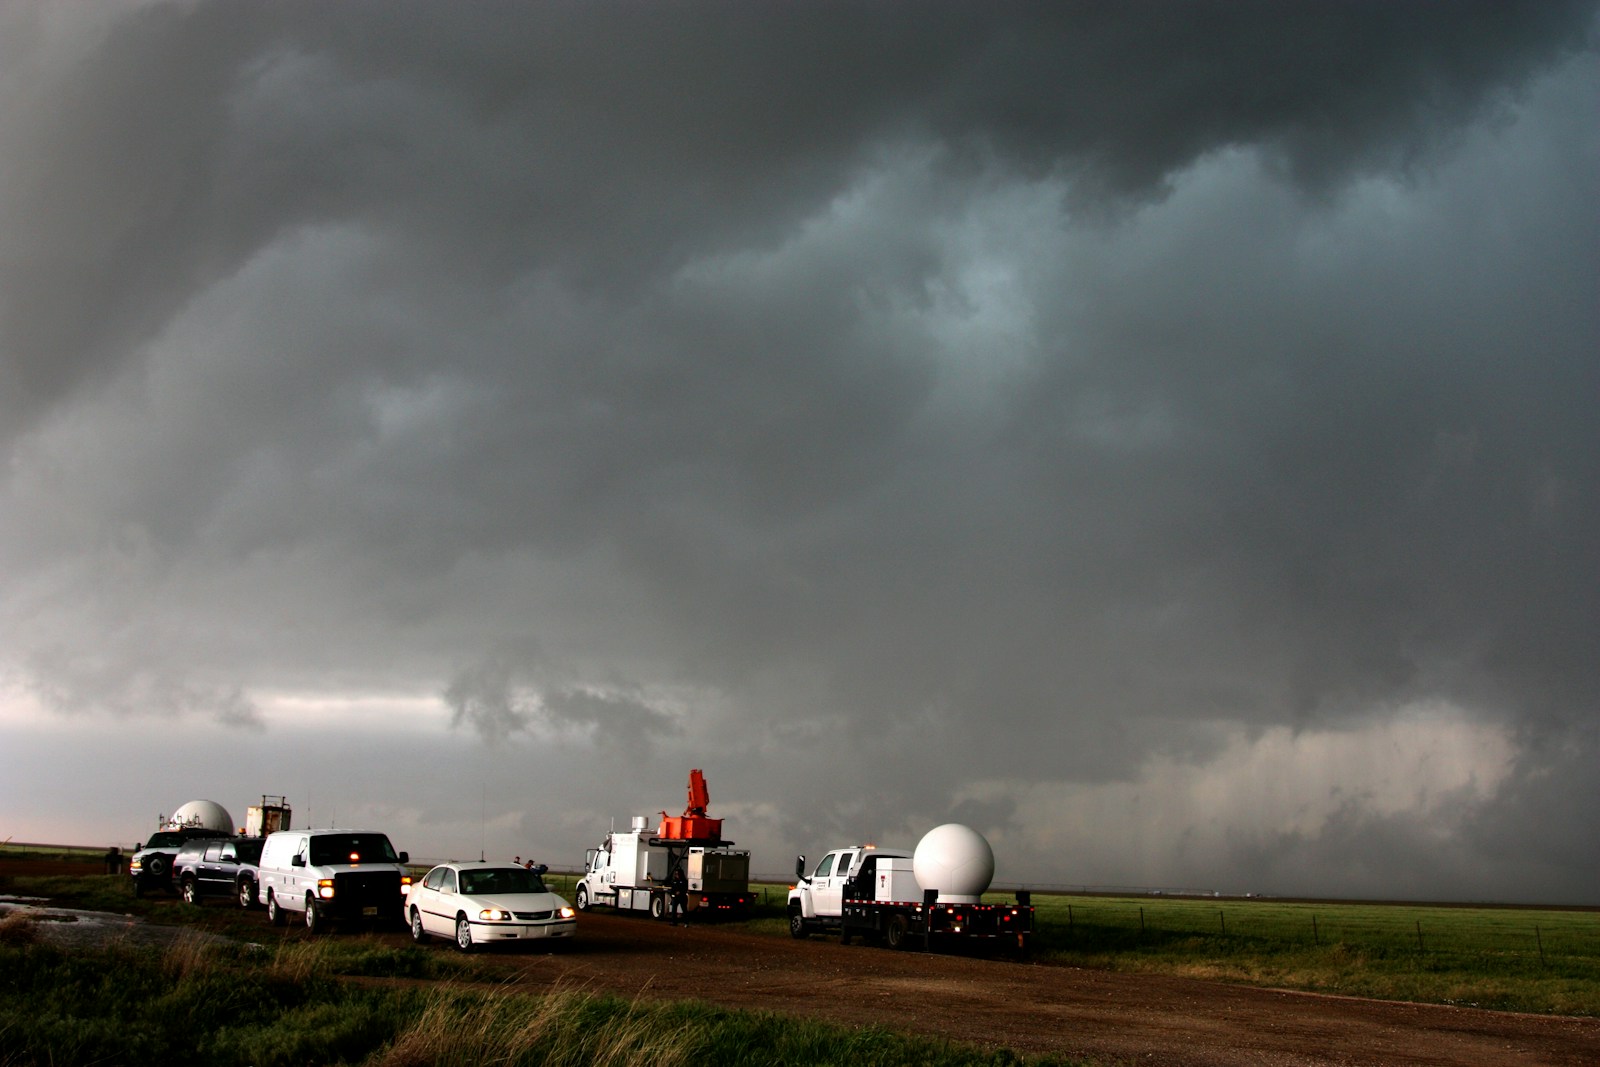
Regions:
<svg viewBox="0 0 1600 1067"><path fill-rule="evenodd" d="M566 901L538 872L514 864L440 864L406 889L405 917L418 944L432 934L453 939L462 952L578 933L578 913Z"/></svg>

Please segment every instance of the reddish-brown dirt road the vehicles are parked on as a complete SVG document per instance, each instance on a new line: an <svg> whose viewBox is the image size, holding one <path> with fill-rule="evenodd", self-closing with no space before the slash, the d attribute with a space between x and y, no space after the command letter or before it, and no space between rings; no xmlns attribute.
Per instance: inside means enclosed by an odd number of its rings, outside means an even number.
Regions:
<svg viewBox="0 0 1600 1067"><path fill-rule="evenodd" d="M14 873L19 873L13 869ZM165 905L163 905L165 907ZM182 905L173 901L171 909ZM232 909L229 909L232 910ZM192 921L238 913L222 904ZM261 941L306 937L256 913ZM342 937L350 934L334 933ZM408 944L405 933L370 934ZM429 950L453 953L445 942ZM563 952L470 957L485 981L656 1000L698 998L1019 1053L1174 1067L1518 1067L1600 1064L1600 1019L1550 1017L1262 990L1219 982L982 960L738 925L670 926L589 912Z"/></svg>

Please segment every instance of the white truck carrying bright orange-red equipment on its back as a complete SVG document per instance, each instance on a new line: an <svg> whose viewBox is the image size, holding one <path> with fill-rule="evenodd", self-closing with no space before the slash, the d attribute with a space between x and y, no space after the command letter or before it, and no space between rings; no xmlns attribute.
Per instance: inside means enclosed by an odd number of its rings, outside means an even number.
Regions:
<svg viewBox="0 0 1600 1067"><path fill-rule="evenodd" d="M595 905L650 912L672 918L678 881L686 915L742 917L750 905L750 854L722 840L722 819L706 814L706 776L690 771L690 801L682 816L661 813L654 832L646 816L629 830L611 830L600 848L584 854L584 873L573 888L579 912Z"/></svg>

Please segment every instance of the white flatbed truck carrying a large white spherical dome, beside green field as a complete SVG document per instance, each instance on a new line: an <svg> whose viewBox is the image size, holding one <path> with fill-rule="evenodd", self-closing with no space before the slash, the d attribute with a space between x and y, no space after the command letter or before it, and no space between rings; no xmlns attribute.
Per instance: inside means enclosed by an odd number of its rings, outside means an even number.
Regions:
<svg viewBox="0 0 1600 1067"><path fill-rule="evenodd" d="M835 848L810 875L800 856L789 888L789 933L837 931L845 944L859 934L891 949L992 942L1026 955L1034 934L1032 897L1019 889L1014 904L984 904L994 872L989 841L957 822L928 830L914 853L874 845Z"/></svg>

